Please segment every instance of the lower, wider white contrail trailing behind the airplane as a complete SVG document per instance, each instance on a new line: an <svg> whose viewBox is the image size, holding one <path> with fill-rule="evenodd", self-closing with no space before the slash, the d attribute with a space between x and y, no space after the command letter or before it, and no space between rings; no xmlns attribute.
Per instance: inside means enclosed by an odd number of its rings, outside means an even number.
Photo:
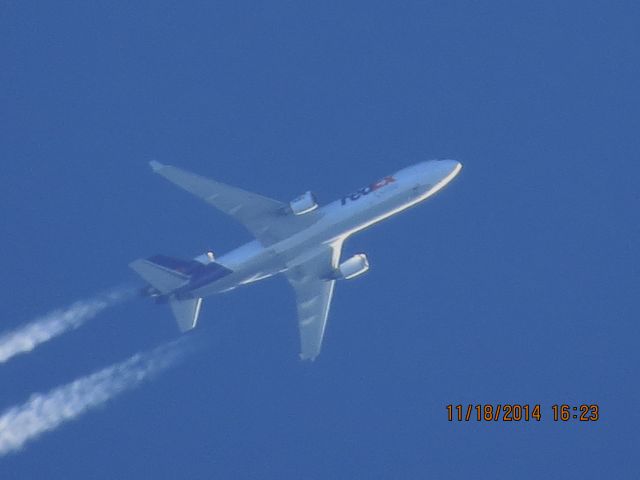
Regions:
<svg viewBox="0 0 640 480"><path fill-rule="evenodd" d="M25 403L9 408L0 416L0 456L20 450L44 432L54 430L158 375L175 364L190 350L187 347L192 346L191 338L182 337L48 393L33 394Z"/></svg>

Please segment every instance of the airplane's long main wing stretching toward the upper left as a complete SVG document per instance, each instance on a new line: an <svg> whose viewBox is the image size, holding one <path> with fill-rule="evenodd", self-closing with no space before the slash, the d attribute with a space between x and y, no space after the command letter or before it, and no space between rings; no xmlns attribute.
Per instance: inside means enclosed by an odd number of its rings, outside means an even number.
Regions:
<svg viewBox="0 0 640 480"><path fill-rule="evenodd" d="M287 238L318 221L317 212L296 216L289 214L288 204L247 192L237 187L201 177L155 160L149 162L157 174L201 198L242 223L265 245Z"/></svg>

